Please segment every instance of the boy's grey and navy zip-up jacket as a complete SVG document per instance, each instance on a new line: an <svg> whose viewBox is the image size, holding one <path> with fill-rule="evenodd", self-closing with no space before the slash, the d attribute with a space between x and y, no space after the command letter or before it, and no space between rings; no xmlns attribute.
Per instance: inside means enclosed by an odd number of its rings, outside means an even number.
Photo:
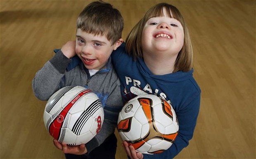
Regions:
<svg viewBox="0 0 256 159"><path fill-rule="evenodd" d="M85 144L90 153L115 131L118 115L123 107L120 81L111 63L111 58L107 65L93 76L90 76L81 60L78 66L67 70L70 62L71 59L66 58L62 51L58 50L55 56L36 73L32 88L35 96L43 101L48 100L60 88L69 85L83 86L98 95L104 107L104 122L99 134Z"/></svg>

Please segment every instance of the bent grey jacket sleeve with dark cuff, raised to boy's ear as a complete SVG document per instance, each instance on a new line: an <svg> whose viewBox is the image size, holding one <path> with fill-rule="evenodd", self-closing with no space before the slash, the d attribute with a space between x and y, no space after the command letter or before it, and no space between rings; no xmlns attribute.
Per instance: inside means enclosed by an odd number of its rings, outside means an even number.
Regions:
<svg viewBox="0 0 256 159"><path fill-rule="evenodd" d="M36 73L32 80L32 89L38 99L46 101L54 92L63 87L61 83L69 62L71 60L59 50Z"/></svg>

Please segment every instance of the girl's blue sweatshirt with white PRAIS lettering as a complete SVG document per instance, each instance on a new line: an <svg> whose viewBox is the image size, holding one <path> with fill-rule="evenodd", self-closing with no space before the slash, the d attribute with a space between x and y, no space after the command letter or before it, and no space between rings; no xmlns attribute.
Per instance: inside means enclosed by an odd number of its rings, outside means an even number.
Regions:
<svg viewBox="0 0 256 159"><path fill-rule="evenodd" d="M193 69L188 72L178 71L166 75L154 75L143 59L133 60L122 44L111 54L112 63L121 81L123 102L148 93L156 94L169 101L179 122L179 134L171 147L160 153L147 155L144 159L171 159L192 138L197 123L201 90L193 78Z"/></svg>

